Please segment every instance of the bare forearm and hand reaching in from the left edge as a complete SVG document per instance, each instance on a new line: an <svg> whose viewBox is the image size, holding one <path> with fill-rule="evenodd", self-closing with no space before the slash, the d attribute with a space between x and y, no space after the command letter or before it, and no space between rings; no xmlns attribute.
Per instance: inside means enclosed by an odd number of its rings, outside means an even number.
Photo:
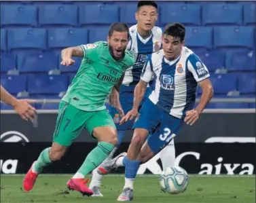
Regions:
<svg viewBox="0 0 256 203"><path fill-rule="evenodd" d="M36 110L29 103L34 103L31 99L20 99L18 100L12 96L3 86L1 86L1 100L7 105L14 107L14 110L22 117L22 119L28 121L35 118Z"/></svg>

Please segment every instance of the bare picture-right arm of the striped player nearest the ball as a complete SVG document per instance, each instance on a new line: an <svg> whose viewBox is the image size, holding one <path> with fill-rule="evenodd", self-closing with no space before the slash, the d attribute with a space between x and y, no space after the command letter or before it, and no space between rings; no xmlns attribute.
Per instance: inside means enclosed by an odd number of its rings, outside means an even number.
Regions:
<svg viewBox="0 0 256 203"><path fill-rule="evenodd" d="M199 86L202 88L202 96L200 101L196 107L196 109L192 109L191 111L187 111L186 117L184 121L192 126L198 119L199 115L202 113L206 105L209 103L211 98L213 97L213 86L211 84L210 79L204 79L198 82Z"/></svg>

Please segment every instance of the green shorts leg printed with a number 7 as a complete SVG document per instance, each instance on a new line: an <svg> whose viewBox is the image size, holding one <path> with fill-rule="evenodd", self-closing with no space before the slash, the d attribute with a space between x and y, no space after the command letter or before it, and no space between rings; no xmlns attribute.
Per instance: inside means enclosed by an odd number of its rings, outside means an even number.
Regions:
<svg viewBox="0 0 256 203"><path fill-rule="evenodd" d="M88 116L85 111L61 101L54 130L54 143L70 146L83 130L87 119Z"/></svg>

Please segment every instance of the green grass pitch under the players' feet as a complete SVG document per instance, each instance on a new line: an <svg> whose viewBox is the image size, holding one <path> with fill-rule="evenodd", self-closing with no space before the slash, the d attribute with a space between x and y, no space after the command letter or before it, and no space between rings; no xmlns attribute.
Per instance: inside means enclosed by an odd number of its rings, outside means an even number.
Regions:
<svg viewBox="0 0 256 203"><path fill-rule="evenodd" d="M23 175L1 175L1 203L113 203L117 202L124 187L124 175L106 176L101 192L103 198L81 196L77 191L66 191L70 175L43 174L37 179L30 192L22 190ZM89 177L90 178L90 177ZM187 191L179 195L170 195L160 191L158 176L138 176L134 182L134 200L136 203L254 203L255 176L200 177L189 175Z"/></svg>

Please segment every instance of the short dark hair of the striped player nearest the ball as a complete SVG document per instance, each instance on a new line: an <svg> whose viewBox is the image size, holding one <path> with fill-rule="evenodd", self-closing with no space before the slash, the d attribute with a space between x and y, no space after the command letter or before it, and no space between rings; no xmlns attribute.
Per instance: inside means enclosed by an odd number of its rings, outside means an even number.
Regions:
<svg viewBox="0 0 256 203"><path fill-rule="evenodd" d="M167 24L164 27L163 35L171 35L172 37L179 37L181 41L185 39L185 26L183 24L176 22L172 24Z"/></svg>

